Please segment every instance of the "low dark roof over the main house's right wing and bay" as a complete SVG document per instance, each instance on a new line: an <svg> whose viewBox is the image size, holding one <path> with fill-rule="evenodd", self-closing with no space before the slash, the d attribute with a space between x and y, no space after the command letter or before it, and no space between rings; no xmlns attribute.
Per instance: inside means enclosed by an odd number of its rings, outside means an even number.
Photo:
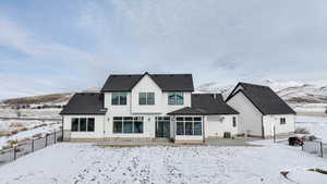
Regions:
<svg viewBox="0 0 327 184"><path fill-rule="evenodd" d="M168 114L239 114L238 111L228 106L220 94L193 94L192 107L182 108Z"/></svg>

